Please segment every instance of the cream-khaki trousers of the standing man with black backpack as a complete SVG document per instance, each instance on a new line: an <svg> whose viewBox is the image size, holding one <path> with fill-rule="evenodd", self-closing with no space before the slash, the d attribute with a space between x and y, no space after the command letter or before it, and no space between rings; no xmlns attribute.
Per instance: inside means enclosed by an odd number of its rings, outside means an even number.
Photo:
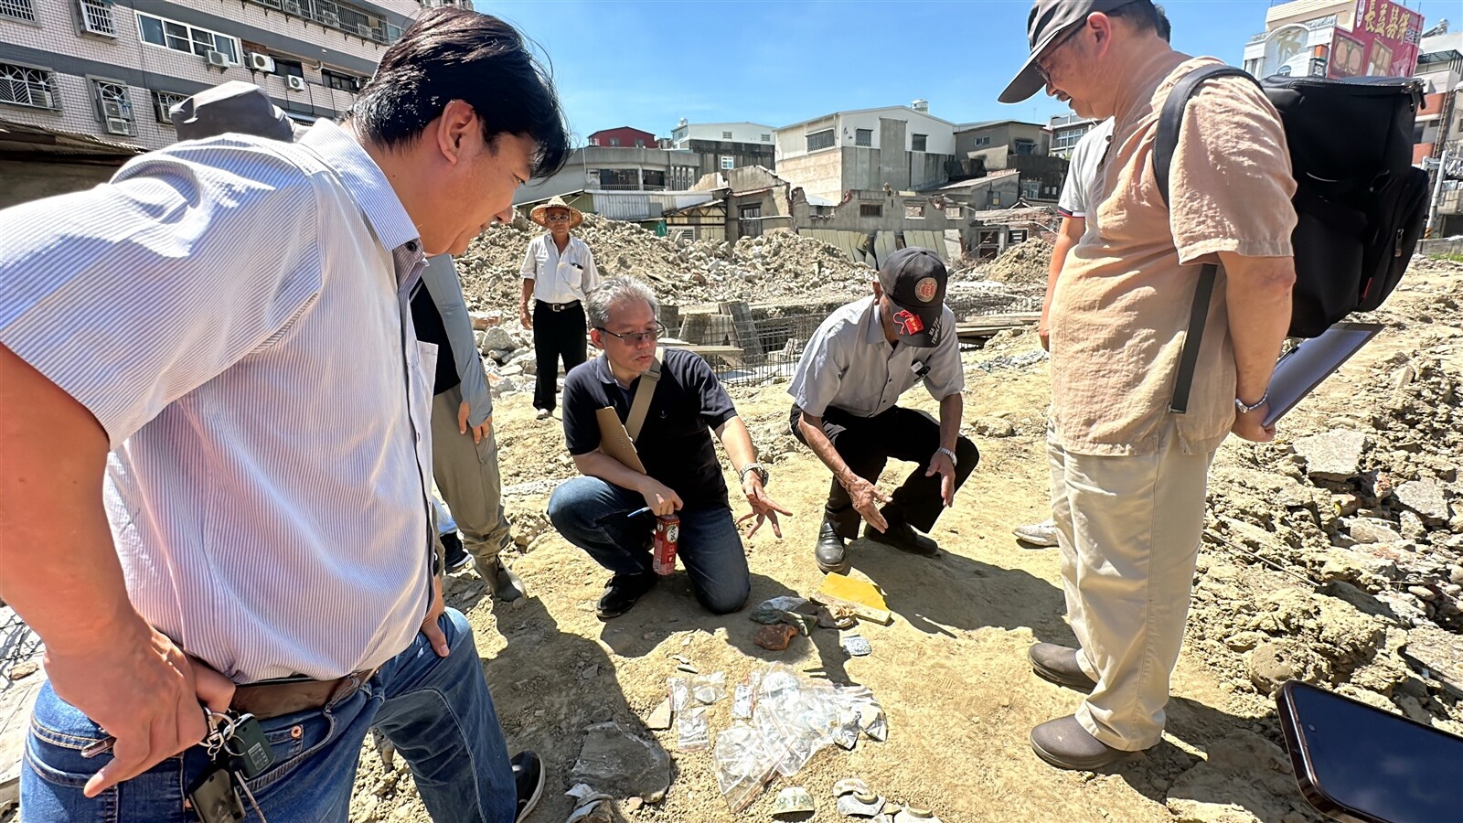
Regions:
<svg viewBox="0 0 1463 823"><path fill-rule="evenodd" d="M1050 432L1046 451L1067 617L1097 681L1077 720L1113 748L1157 745L1214 453L1184 454L1172 423L1154 454L1072 454Z"/></svg>

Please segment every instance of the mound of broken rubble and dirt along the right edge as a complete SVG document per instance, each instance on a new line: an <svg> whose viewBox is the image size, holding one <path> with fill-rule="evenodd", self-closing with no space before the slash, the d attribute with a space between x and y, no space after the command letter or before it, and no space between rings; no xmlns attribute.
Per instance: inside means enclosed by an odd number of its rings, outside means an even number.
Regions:
<svg viewBox="0 0 1463 823"><path fill-rule="evenodd" d="M1412 319L1456 316L1460 294ZM1271 694L1299 678L1463 732L1463 370L1451 353L1399 351L1358 381L1352 406L1320 410L1289 442L1220 450L1188 643L1226 688Z"/></svg>

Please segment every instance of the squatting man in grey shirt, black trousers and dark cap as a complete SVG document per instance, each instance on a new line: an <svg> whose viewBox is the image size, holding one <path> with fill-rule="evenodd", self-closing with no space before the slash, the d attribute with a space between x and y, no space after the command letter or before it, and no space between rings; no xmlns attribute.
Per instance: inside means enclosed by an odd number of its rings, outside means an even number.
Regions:
<svg viewBox="0 0 1463 823"><path fill-rule="evenodd" d="M900 249L879 268L873 294L818 327L787 392L791 428L832 472L815 556L824 573L849 570L847 540L863 536L932 556L920 535L935 526L980 460L960 436L961 390L955 315L945 306L945 264L929 249ZM916 382L939 401L939 422L897 401ZM917 463L887 495L875 485L890 458ZM884 504L882 507L879 504Z"/></svg>

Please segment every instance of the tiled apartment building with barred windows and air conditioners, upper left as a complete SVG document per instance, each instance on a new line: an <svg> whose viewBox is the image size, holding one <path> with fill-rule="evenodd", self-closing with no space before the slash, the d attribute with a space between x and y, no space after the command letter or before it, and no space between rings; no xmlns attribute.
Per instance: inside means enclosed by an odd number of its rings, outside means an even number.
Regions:
<svg viewBox="0 0 1463 823"><path fill-rule="evenodd" d="M224 81L338 117L418 0L0 0L0 123L161 148L168 107Z"/></svg>

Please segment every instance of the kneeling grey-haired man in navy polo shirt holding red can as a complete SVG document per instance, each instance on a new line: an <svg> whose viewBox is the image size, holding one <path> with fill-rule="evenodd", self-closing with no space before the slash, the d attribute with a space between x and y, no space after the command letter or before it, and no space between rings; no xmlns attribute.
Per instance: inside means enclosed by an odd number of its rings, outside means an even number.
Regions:
<svg viewBox="0 0 1463 823"><path fill-rule="evenodd" d="M582 477L549 499L549 520L566 540L614 573L600 597L601 619L631 609L655 584L651 571L651 514L680 515L679 556L701 605L715 614L734 612L751 590L742 536L732 521L726 480L711 432L721 439L756 515L752 533L770 520L781 537L778 513L791 514L764 486L767 469L732 398L699 354L664 353L660 381L635 450L645 474L600 450L595 411L614 409L629 419L641 375L655 363L655 341L666 331L655 319L655 294L632 278L607 280L585 300L590 340L604 354L575 366L563 384L563 435ZM645 387L647 390L651 385ZM650 513L631 517L638 510Z"/></svg>

